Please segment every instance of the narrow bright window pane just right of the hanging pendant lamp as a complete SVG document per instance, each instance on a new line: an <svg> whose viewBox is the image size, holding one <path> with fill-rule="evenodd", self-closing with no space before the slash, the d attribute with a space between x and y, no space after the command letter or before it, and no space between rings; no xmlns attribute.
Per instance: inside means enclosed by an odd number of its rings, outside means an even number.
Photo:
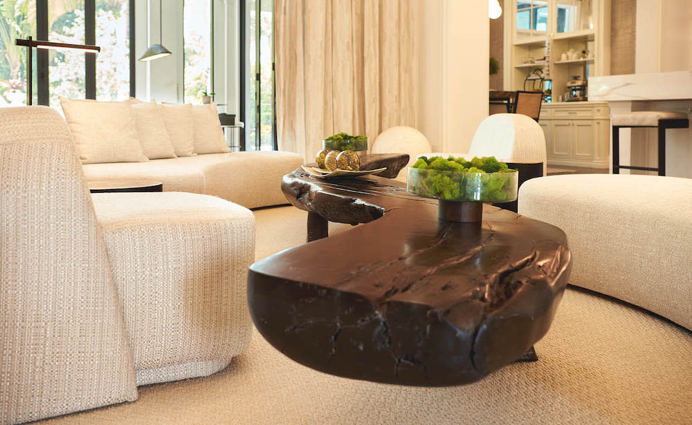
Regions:
<svg viewBox="0 0 692 425"><path fill-rule="evenodd" d="M212 23L210 0L185 0L183 6L183 87L185 102L202 103L211 93Z"/></svg>

